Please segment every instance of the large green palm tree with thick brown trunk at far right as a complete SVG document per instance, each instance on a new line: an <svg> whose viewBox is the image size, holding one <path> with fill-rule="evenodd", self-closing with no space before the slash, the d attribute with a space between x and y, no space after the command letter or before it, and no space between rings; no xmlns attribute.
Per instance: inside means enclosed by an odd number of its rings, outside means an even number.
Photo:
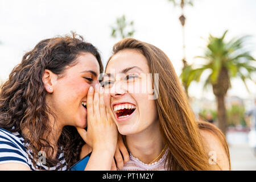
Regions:
<svg viewBox="0 0 256 182"><path fill-rule="evenodd" d="M255 59L245 48L246 39L249 36L233 38L225 42L227 32L225 31L221 38L209 35L204 56L197 56L206 60L207 63L196 69L188 65L181 73L181 79L187 81L187 86L189 86L193 80L199 82L203 72L211 71L204 82L204 88L212 85L217 101L218 126L224 134L226 133L225 95L231 86L230 78L241 78L249 92L246 80L252 80L251 74L256 71L253 66Z"/></svg>

